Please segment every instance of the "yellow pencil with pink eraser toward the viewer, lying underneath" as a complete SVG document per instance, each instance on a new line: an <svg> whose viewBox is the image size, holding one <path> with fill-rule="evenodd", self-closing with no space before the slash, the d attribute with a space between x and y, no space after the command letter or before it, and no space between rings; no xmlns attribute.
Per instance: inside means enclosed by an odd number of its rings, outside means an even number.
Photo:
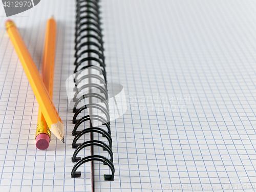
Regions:
<svg viewBox="0 0 256 192"><path fill-rule="evenodd" d="M44 60L42 61L42 81L52 99L53 95L53 76L54 76L54 58L56 41L56 22L53 17L48 19L46 26ZM47 126L44 115L40 107L38 108L37 126L35 134L35 145L39 150L46 150L51 139L51 132Z"/></svg>

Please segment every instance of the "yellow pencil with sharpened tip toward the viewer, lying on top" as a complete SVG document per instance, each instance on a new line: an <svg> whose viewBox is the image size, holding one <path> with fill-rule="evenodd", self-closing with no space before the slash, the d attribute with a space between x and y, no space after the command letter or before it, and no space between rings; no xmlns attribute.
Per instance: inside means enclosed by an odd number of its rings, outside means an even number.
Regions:
<svg viewBox="0 0 256 192"><path fill-rule="evenodd" d="M17 52L31 88L35 94L35 98L39 104L41 112L45 117L47 125L50 127L51 132L64 143L63 123L45 87L45 84L35 67L34 61L32 60L14 22L12 20L7 20L5 25L7 33L10 36L14 49Z"/></svg>

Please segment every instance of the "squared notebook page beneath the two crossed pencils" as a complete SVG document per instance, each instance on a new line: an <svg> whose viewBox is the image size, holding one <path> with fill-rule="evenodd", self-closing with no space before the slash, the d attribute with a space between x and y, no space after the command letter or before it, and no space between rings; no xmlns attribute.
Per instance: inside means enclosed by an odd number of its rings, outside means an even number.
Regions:
<svg viewBox="0 0 256 192"><path fill-rule="evenodd" d="M35 146L38 103L6 33L2 3L0 13L0 191L91 191L90 163L80 169L82 178L71 178L74 125L65 81L74 71L75 1L44 0L8 17L16 23L40 74L47 19L54 15L57 22L53 102L64 124L65 144L52 135L46 151Z"/></svg>

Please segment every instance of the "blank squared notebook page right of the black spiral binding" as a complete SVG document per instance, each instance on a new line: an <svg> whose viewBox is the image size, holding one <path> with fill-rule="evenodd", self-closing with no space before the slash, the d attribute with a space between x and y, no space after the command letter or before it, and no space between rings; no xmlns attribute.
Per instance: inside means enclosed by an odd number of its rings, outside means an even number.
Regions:
<svg viewBox="0 0 256 192"><path fill-rule="evenodd" d="M108 82L130 106L111 124L115 181L97 191L256 190L255 9L102 2Z"/></svg>

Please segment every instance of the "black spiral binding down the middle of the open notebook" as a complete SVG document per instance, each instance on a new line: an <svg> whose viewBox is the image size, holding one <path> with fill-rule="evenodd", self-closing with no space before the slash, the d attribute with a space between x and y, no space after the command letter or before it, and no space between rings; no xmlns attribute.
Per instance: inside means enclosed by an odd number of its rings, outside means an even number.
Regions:
<svg viewBox="0 0 256 192"><path fill-rule="evenodd" d="M75 29L75 76L74 82L75 84L75 95L73 98L74 108L73 112L73 123L75 124L72 135L75 136L72 148L75 148L75 152L72 157L72 162L76 162L72 172L71 177L80 177L81 172L76 172L77 168L82 164L91 161L92 163L92 185L94 189L94 170L93 170L93 162L101 161L104 165L108 165L111 169L112 175L104 175L104 180L113 181L115 168L113 165L113 152L112 152L112 138L111 138L111 130L110 130L110 114L109 114L109 103L108 103L108 87L106 86L106 72L105 72L105 61L103 54L103 41L101 34L101 23L99 17L99 1L97 0L77 0L76 1L76 29ZM97 57L96 57L96 56ZM94 63L94 64L93 64ZM95 65L98 63L99 65ZM95 75L95 74L87 74L78 78L80 72L82 70L94 69L100 72L103 76ZM90 82L90 79L98 79L100 84ZM88 84L81 85L83 79L88 79ZM78 88L80 87L80 88ZM83 94L79 96L84 89L95 89L99 90L100 93L94 93L89 90L89 93ZM77 109L78 104L84 99L89 99L89 103L81 106ZM97 98L103 103L97 104L92 103L92 98ZM81 117L80 119L77 116L83 112L83 110L89 110L90 115L86 115ZM92 113L92 109L97 109L104 114L104 116L94 115ZM100 124L105 126L105 129L102 129L97 126L92 125L92 120L96 120L100 122ZM82 131L77 131L79 126L83 124L83 122L89 121L90 127ZM78 143L78 140L84 134L90 133L90 140ZM93 133L98 133L105 137L108 140L108 143L94 140ZM78 153L84 148L90 146L91 147L91 155L88 157L80 158L77 157ZM101 155L94 155L93 146L100 146L104 151L109 153L110 158L106 158Z"/></svg>

